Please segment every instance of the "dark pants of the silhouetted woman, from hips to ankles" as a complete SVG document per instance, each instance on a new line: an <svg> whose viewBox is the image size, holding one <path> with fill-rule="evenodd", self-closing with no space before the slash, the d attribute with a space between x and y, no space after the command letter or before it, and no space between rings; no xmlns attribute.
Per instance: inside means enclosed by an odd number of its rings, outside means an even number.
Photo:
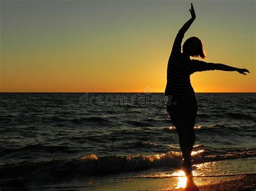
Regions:
<svg viewBox="0 0 256 191"><path fill-rule="evenodd" d="M196 122L198 109L197 100L193 98L172 98L172 100L169 100L166 107L172 123L178 132L184 163L185 165L191 165L191 152L196 140L194 124Z"/></svg>

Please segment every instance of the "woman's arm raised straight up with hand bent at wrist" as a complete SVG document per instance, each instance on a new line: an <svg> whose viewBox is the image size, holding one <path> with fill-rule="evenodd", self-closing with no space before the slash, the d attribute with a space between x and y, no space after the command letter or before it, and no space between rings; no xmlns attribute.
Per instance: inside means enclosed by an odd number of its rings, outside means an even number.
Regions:
<svg viewBox="0 0 256 191"><path fill-rule="evenodd" d="M191 13L191 19L189 19L179 30L173 46L172 46L172 53L174 52L181 52L181 42L182 39L184 38L184 34L186 33L186 31L190 28L190 26L192 25L192 23L194 22L194 20L196 19L196 13L194 12L194 7L193 4L191 3L191 9L190 9L190 13Z"/></svg>

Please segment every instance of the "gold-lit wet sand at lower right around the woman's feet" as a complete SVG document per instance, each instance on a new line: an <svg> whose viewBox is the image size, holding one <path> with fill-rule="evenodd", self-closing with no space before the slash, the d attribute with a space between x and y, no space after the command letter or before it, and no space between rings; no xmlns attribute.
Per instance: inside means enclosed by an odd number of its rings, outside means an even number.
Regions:
<svg viewBox="0 0 256 191"><path fill-rule="evenodd" d="M90 187L89 190L255 190L256 174L164 179L141 179ZM195 186L197 185L197 186ZM80 188L79 190L87 190Z"/></svg>

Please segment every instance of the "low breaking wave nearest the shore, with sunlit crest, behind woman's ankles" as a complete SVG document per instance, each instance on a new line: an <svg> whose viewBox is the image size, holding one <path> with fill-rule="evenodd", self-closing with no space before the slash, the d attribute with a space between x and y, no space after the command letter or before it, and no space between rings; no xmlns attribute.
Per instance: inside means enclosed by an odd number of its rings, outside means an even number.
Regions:
<svg viewBox="0 0 256 191"><path fill-rule="evenodd" d="M140 143L145 144L145 143ZM147 144L147 143L146 143ZM256 148L240 150L216 150L203 145L196 145L192 152L193 164L204 162L256 157ZM6 164L0 167L0 179L21 178L22 176L38 176L51 174L56 179L77 175L100 175L116 172L138 171L148 168L181 166L181 153L170 151L153 155L126 155L98 157L87 154L72 160L51 160L39 162L21 162ZM42 178L42 177L41 177Z"/></svg>

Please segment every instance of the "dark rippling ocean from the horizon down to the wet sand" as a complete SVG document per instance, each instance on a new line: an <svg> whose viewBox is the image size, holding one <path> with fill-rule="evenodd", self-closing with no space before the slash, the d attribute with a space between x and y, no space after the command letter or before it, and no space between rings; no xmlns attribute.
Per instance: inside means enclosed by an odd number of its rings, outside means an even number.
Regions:
<svg viewBox="0 0 256 191"><path fill-rule="evenodd" d="M0 186L89 189L175 176L163 93L1 93ZM256 173L256 94L198 93L196 176Z"/></svg>

